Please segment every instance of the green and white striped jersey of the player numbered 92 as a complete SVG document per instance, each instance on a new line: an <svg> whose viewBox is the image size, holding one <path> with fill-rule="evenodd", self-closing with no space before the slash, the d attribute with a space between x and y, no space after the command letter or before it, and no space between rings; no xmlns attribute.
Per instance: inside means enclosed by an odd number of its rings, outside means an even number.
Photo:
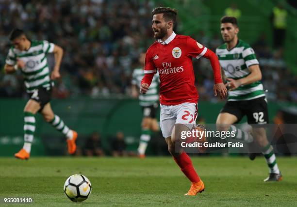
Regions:
<svg viewBox="0 0 297 207"><path fill-rule="evenodd" d="M226 77L238 80L250 74L248 67L259 64L254 50L244 41L239 40L237 45L231 50L227 49L227 44L216 48L220 65ZM251 100L265 96L261 81L256 81L238 87L228 92L228 101Z"/></svg>

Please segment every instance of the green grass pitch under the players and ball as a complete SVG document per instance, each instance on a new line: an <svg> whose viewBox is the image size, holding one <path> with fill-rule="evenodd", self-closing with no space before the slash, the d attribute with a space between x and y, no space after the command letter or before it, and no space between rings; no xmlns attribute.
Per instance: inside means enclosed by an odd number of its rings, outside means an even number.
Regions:
<svg viewBox="0 0 297 207"><path fill-rule="evenodd" d="M183 194L190 183L171 157L161 158L0 158L0 206L5 197L31 197L25 206L297 206L297 157L277 159L283 181L264 183L263 157L195 157L205 183L198 196ZM72 203L63 192L66 178L86 175L90 197ZM8 204L6 206L14 206Z"/></svg>

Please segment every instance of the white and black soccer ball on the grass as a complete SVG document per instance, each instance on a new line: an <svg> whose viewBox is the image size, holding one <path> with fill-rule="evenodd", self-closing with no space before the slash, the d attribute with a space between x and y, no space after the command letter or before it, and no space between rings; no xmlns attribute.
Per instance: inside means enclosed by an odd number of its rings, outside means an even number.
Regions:
<svg viewBox="0 0 297 207"><path fill-rule="evenodd" d="M71 175L64 184L65 195L73 202L82 202L91 194L90 180L84 175Z"/></svg>

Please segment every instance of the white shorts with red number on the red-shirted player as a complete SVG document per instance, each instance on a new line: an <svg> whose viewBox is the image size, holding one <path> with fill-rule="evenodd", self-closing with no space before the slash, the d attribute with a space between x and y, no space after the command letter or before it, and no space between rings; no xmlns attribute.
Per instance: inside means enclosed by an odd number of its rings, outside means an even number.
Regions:
<svg viewBox="0 0 297 207"><path fill-rule="evenodd" d="M196 124L197 103L182 103L174 106L160 104L160 106L160 127L163 137L171 136L175 124Z"/></svg>

